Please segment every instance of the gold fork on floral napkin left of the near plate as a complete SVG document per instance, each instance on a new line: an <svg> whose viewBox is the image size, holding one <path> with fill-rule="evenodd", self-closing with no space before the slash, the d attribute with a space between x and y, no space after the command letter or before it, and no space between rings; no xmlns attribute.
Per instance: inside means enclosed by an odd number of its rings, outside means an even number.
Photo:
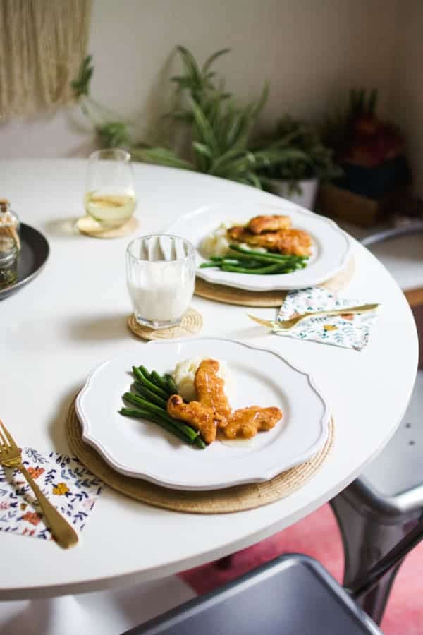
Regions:
<svg viewBox="0 0 423 635"><path fill-rule="evenodd" d="M53 507L51 502L47 500L42 491L39 489L37 483L32 478L27 468L22 463L22 454L20 448L16 445L11 433L6 430L3 421L0 419L0 463L8 468L17 468L23 476L25 476L27 482L30 484L32 491L34 492L44 514L44 518L49 524L51 533L53 533L56 543L68 549L78 543L78 534L68 524L63 516L57 511L56 507Z"/></svg>

